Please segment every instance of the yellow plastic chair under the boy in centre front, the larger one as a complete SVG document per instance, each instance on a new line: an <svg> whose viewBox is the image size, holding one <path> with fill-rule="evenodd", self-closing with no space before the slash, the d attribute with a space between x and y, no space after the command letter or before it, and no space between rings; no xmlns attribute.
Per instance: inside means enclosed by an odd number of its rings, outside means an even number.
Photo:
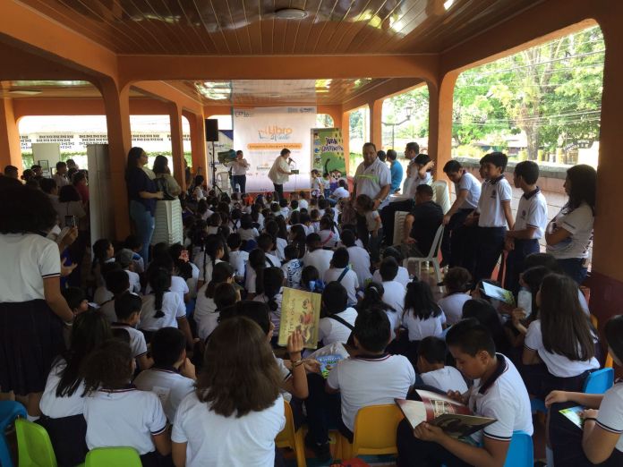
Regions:
<svg viewBox="0 0 623 467"><path fill-rule="evenodd" d="M354 418L353 444L339 435L336 456L350 459L360 454L398 454L396 430L403 418L395 403L363 407Z"/></svg>

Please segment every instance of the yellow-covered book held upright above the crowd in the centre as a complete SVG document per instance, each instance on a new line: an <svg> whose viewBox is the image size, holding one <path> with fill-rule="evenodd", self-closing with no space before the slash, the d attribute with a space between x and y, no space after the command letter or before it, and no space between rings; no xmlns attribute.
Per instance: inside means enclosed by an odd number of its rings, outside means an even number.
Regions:
<svg viewBox="0 0 623 467"><path fill-rule="evenodd" d="M279 324L279 345L286 346L288 336L298 329L303 335L303 347L315 349L318 346L320 301L320 293L284 287Z"/></svg>

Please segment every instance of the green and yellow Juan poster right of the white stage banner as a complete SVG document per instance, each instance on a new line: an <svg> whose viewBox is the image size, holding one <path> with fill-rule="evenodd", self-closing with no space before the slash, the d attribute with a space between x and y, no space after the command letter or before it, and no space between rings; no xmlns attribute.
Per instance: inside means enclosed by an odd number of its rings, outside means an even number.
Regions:
<svg viewBox="0 0 623 467"><path fill-rule="evenodd" d="M346 159L341 128L312 128L311 164L320 174L329 174L331 183L346 177Z"/></svg>

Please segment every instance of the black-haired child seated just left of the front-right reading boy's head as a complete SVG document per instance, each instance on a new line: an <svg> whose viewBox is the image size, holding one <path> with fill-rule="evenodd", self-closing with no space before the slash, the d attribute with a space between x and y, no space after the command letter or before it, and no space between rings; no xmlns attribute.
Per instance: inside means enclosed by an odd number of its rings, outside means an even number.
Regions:
<svg viewBox="0 0 623 467"><path fill-rule="evenodd" d="M444 393L458 391L465 394L465 379L458 369L445 364L447 355L448 347L443 339L429 335L420 341L417 348L417 370L422 382Z"/></svg>

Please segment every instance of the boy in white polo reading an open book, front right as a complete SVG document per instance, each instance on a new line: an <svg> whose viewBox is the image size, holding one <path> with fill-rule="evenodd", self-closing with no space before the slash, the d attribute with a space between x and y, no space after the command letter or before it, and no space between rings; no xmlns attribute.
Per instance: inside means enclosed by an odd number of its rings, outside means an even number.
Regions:
<svg viewBox="0 0 623 467"><path fill-rule="evenodd" d="M474 415L496 421L466 442L449 437L442 429L422 422L412 429L406 420L398 425L398 466L444 464L503 465L514 431L533 434L530 397L511 361L496 353L485 327L464 319L450 327L446 343L465 378L474 386L465 394L448 395L465 403Z"/></svg>

